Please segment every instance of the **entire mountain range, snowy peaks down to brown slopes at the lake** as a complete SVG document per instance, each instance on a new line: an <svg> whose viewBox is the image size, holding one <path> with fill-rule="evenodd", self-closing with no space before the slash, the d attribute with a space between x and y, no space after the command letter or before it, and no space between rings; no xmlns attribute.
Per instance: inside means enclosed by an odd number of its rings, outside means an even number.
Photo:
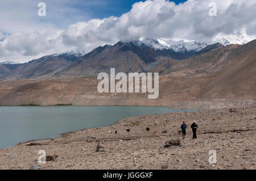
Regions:
<svg viewBox="0 0 256 181"><path fill-rule="evenodd" d="M184 41L180 41L179 46L176 43L167 46L160 42L152 39L120 41L86 54L67 52L24 64L0 64L0 106L170 106L185 102L182 108L188 104L196 108L194 102L199 100L204 100L203 108L207 108L208 100L221 100L214 108L227 105L222 100L236 100L240 106L255 104L256 40L226 46ZM179 50L170 48L174 46ZM141 93L98 92L96 75L109 73L110 68L124 73L158 72L158 99L149 100ZM234 102L228 105L234 106Z"/></svg>

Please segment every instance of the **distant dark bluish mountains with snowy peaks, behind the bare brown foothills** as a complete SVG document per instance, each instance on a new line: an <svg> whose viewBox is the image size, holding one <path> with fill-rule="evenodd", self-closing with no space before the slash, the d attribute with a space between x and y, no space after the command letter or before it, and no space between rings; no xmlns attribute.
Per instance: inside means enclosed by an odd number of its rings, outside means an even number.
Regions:
<svg viewBox="0 0 256 181"><path fill-rule="evenodd" d="M51 54L24 64L0 64L0 80L95 76L110 68L124 73L148 71L162 61L184 60L223 48L221 44L191 41L140 40L98 47L92 52Z"/></svg>

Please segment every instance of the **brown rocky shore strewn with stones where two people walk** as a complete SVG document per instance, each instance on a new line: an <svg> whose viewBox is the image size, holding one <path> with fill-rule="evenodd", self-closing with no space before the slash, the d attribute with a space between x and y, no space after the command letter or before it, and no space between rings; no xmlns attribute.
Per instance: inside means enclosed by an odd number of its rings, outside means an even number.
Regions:
<svg viewBox="0 0 256 181"><path fill-rule="evenodd" d="M179 132L183 120L185 140ZM255 127L255 106L130 117L0 149L0 169L256 169ZM39 150L46 151L46 163L38 163ZM208 161L210 150L216 163Z"/></svg>

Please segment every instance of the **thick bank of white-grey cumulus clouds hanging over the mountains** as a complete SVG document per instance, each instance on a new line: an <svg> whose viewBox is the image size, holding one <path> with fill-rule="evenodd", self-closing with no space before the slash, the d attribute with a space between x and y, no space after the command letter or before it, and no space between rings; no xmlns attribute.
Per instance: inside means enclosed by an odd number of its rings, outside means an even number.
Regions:
<svg viewBox="0 0 256 181"><path fill-rule="evenodd" d="M209 16L209 3L217 16ZM222 37L236 43L237 37L256 37L255 0L189 0L175 5L166 0L137 2L119 17L92 19L71 24L67 30L41 28L32 33L0 32L0 61L28 61L68 50L90 50L140 37L216 42ZM1 41L2 37L2 41Z"/></svg>

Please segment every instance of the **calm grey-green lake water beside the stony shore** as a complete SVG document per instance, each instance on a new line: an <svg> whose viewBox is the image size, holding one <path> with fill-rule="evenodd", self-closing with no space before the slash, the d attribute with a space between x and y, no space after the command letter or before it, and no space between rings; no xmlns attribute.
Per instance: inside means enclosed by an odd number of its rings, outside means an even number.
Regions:
<svg viewBox="0 0 256 181"><path fill-rule="evenodd" d="M60 133L82 128L105 127L126 117L182 111L195 110L149 106L4 106L0 107L0 148L58 137Z"/></svg>

